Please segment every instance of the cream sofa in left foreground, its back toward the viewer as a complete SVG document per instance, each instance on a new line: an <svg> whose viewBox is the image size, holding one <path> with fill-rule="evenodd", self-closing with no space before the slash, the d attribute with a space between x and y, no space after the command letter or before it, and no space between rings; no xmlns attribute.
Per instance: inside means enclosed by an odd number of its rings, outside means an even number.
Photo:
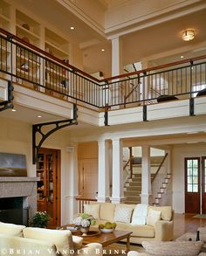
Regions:
<svg viewBox="0 0 206 256"><path fill-rule="evenodd" d="M0 222L0 256L102 255L102 246L82 246L83 239L70 231L25 227Z"/></svg>

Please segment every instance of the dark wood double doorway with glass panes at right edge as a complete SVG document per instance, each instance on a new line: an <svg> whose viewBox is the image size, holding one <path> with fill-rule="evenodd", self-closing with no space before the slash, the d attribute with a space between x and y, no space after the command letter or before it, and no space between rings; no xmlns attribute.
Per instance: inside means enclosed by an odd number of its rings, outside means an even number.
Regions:
<svg viewBox="0 0 206 256"><path fill-rule="evenodd" d="M185 158L185 212L206 213L206 156Z"/></svg>

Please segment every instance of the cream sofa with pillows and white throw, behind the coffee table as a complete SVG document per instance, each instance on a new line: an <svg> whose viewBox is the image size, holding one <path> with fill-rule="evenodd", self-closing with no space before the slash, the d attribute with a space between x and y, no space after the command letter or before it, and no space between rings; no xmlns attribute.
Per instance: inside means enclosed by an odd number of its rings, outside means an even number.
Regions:
<svg viewBox="0 0 206 256"><path fill-rule="evenodd" d="M142 216L140 206L144 206ZM85 204L84 212L96 219L96 227L107 221L115 222L117 230L133 232L130 242L168 241L173 239L173 211L171 206L154 207L142 204Z"/></svg>

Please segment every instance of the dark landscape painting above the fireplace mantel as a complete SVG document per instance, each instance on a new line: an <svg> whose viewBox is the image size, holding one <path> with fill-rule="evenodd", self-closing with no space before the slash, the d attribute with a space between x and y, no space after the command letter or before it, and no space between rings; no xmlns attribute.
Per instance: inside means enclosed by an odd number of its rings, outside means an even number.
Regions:
<svg viewBox="0 0 206 256"><path fill-rule="evenodd" d="M0 153L0 176L27 176L25 155Z"/></svg>

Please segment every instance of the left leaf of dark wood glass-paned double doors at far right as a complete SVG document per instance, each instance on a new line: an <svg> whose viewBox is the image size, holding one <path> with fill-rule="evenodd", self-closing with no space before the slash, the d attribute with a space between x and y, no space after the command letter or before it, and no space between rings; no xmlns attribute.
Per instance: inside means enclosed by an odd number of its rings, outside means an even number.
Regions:
<svg viewBox="0 0 206 256"><path fill-rule="evenodd" d="M185 212L200 213L200 158L185 158Z"/></svg>

